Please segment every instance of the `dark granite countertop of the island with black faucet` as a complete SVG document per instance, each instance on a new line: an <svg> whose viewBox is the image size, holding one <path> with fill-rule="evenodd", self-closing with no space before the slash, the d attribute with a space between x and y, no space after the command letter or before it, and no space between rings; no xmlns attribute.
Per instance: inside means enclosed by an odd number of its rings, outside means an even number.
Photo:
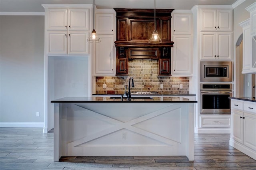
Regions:
<svg viewBox="0 0 256 170"><path fill-rule="evenodd" d="M64 97L51 103L197 103L186 97L134 97L131 101L119 97Z"/></svg>

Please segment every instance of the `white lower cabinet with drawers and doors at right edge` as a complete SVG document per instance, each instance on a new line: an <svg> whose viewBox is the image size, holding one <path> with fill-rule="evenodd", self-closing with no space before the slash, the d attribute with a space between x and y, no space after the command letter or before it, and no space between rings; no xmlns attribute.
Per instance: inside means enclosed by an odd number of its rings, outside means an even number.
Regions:
<svg viewBox="0 0 256 170"><path fill-rule="evenodd" d="M256 159L256 103L231 99L230 145Z"/></svg>

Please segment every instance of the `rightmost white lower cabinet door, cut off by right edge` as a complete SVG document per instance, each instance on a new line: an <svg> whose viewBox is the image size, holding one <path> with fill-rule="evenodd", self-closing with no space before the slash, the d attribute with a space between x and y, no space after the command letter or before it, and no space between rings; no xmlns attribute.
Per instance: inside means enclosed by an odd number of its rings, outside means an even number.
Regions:
<svg viewBox="0 0 256 170"><path fill-rule="evenodd" d="M256 150L256 115L244 113L244 145Z"/></svg>

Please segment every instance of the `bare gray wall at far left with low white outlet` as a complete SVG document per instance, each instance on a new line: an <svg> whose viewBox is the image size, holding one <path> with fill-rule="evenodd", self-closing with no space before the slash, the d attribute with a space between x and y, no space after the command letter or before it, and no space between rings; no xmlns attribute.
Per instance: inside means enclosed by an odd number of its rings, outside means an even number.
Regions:
<svg viewBox="0 0 256 170"><path fill-rule="evenodd" d="M3 122L44 122L44 16L0 16Z"/></svg>

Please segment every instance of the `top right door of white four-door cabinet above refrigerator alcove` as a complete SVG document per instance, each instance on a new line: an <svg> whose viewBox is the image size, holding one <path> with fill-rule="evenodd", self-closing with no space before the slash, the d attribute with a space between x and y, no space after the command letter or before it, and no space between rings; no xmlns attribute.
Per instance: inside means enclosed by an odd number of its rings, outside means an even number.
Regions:
<svg viewBox="0 0 256 170"><path fill-rule="evenodd" d="M89 31L89 9L71 8L68 10L69 31Z"/></svg>

